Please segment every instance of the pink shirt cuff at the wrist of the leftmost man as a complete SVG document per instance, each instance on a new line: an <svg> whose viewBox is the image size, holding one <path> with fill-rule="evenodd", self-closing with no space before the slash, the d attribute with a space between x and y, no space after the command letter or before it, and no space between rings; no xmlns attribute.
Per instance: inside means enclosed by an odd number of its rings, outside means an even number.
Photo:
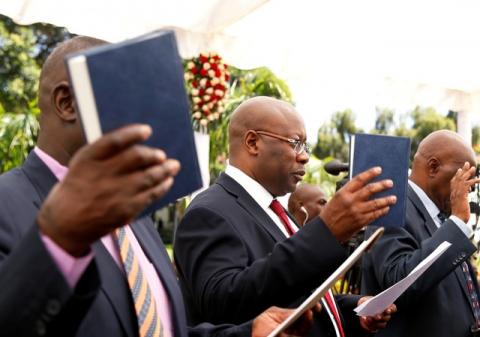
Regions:
<svg viewBox="0 0 480 337"><path fill-rule="evenodd" d="M90 251L90 253L85 256L77 258L68 254L48 236L41 234L41 237L45 247L52 256L53 261L55 261L58 269L60 269L65 277L68 285L72 289L75 289L78 280L80 280L80 277L93 259L93 251Z"/></svg>

